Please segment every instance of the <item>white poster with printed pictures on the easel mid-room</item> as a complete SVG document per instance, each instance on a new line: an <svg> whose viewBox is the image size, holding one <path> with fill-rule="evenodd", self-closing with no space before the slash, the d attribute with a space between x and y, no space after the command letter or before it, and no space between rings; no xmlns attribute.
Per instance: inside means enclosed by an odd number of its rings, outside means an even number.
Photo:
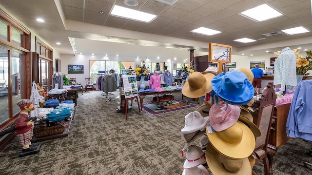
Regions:
<svg viewBox="0 0 312 175"><path fill-rule="evenodd" d="M125 98L138 96L137 75L134 69L121 69Z"/></svg>

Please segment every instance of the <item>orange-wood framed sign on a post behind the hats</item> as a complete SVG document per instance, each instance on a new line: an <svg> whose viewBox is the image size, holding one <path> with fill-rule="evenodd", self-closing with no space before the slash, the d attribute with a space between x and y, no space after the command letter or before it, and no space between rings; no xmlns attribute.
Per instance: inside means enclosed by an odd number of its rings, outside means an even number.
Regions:
<svg viewBox="0 0 312 175"><path fill-rule="evenodd" d="M218 74L222 73L223 63L231 62L232 46L209 43L208 62L218 62Z"/></svg>

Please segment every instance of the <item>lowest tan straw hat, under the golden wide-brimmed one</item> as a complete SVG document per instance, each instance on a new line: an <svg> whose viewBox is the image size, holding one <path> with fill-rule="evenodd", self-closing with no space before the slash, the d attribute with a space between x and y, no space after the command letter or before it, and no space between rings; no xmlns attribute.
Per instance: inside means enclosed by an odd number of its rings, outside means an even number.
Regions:
<svg viewBox="0 0 312 175"><path fill-rule="evenodd" d="M247 157L232 159L218 153L209 143L206 148L206 161L214 175L251 175L252 169Z"/></svg>

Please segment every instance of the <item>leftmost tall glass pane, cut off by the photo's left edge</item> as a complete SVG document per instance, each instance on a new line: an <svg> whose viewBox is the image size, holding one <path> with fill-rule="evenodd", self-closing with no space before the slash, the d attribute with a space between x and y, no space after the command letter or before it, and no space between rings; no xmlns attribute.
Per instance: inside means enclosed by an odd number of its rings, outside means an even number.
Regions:
<svg viewBox="0 0 312 175"><path fill-rule="evenodd" d="M8 51L0 48L0 123L9 118Z"/></svg>

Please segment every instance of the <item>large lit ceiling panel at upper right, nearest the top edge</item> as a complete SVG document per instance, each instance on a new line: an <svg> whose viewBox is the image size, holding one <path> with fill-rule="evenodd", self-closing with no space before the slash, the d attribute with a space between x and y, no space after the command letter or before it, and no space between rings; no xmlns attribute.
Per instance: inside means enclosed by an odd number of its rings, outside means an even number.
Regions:
<svg viewBox="0 0 312 175"><path fill-rule="evenodd" d="M244 12L241 12L239 15L242 15L247 18L254 19L258 22L273 19L282 16L283 14L279 13L272 7L267 4L262 4L257 7L251 8Z"/></svg>

